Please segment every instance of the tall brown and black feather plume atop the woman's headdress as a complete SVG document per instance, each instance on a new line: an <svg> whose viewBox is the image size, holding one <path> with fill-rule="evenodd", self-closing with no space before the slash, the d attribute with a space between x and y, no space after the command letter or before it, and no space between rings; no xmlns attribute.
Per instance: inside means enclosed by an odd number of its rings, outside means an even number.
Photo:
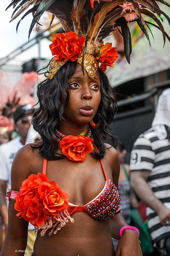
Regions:
<svg viewBox="0 0 170 256"><path fill-rule="evenodd" d="M159 3L170 7L164 0L12 0L7 9L11 6L15 9L12 21L31 6L21 17L22 20L29 13L33 14L29 36L41 15L45 11L51 12L53 17L56 16L60 20L65 32L75 32L78 38L85 38L82 61L84 61L85 54L92 54L100 61L103 39L109 36L116 27L121 27L119 31L123 35L125 56L130 63L132 49L131 34L127 25L129 22L136 21L148 40L149 25L152 25L162 32L164 44L166 38L170 41L170 37L164 31L161 16L164 16L169 24L170 18L161 10ZM153 22L147 21L147 17L152 18ZM103 48L104 50L106 53L106 49Z"/></svg>

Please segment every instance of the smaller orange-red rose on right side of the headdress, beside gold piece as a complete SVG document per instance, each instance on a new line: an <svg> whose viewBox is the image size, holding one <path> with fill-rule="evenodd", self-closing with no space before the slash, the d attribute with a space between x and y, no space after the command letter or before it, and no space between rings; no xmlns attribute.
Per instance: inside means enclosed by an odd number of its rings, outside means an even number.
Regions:
<svg viewBox="0 0 170 256"><path fill-rule="evenodd" d="M101 63L100 68L106 71L107 66L113 67L113 63L119 57L116 47L112 47L112 43L102 44L100 47L100 56L97 60Z"/></svg>

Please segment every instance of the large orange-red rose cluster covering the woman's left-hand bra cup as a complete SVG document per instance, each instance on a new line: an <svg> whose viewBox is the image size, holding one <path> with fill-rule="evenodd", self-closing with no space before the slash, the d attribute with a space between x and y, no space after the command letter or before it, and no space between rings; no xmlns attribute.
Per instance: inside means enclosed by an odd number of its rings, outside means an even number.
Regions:
<svg viewBox="0 0 170 256"><path fill-rule="evenodd" d="M57 216L59 211L68 207L68 194L43 173L29 175L15 200L14 208L19 212L17 216L37 227L49 216Z"/></svg>

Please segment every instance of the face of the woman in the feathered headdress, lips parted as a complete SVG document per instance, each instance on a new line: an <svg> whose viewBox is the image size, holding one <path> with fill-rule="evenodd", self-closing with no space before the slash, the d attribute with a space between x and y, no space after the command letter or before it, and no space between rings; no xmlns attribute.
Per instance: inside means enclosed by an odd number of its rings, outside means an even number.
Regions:
<svg viewBox="0 0 170 256"><path fill-rule="evenodd" d="M101 100L100 76L98 72L93 79L82 73L77 65L74 75L70 78L70 98L64 111L68 122L88 124L95 116Z"/></svg>

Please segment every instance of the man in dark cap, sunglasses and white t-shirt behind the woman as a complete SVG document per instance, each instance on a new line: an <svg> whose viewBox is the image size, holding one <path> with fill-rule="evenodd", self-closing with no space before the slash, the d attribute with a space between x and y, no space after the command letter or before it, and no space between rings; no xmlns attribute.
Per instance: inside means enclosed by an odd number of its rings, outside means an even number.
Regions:
<svg viewBox="0 0 170 256"><path fill-rule="evenodd" d="M5 229L8 224L8 208L6 204L6 190L10 187L10 172L16 152L25 145L27 132L31 125L33 106L30 104L19 106L14 112L15 129L19 136L0 146L0 212ZM32 230L30 225L30 230Z"/></svg>

